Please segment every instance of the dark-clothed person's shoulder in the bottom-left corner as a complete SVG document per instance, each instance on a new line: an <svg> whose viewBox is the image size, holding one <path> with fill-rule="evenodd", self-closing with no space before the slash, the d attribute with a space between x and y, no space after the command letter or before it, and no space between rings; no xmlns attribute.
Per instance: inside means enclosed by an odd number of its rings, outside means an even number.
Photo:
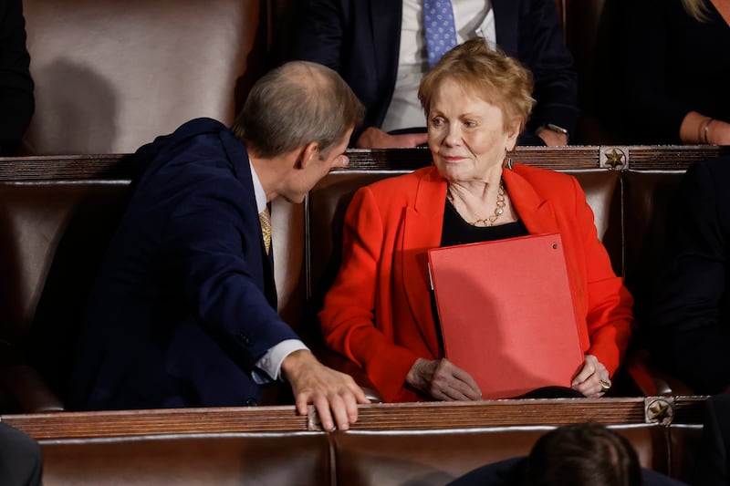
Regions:
<svg viewBox="0 0 730 486"><path fill-rule="evenodd" d="M36 486L42 477L43 450L36 439L0 422L0 484Z"/></svg>

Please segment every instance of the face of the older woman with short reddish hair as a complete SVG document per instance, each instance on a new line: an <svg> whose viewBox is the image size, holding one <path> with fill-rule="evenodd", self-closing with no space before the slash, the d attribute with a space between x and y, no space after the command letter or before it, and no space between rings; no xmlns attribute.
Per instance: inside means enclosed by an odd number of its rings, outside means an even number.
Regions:
<svg viewBox="0 0 730 486"><path fill-rule="evenodd" d="M426 122L433 161L449 181L486 181L501 171L519 129L516 121L506 131L501 109L453 79L436 89Z"/></svg>

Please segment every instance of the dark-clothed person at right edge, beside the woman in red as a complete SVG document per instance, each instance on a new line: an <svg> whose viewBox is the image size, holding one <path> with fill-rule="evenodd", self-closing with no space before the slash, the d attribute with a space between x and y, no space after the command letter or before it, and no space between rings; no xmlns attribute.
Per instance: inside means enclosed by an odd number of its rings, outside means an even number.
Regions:
<svg viewBox="0 0 730 486"><path fill-rule="evenodd" d="M730 386L730 157L694 163L667 212L662 274L652 299L658 367L699 394Z"/></svg>

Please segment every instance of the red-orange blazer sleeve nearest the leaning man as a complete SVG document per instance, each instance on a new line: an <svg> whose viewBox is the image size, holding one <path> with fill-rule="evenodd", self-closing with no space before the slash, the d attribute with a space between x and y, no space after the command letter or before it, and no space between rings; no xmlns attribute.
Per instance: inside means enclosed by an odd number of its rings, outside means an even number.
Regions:
<svg viewBox="0 0 730 486"><path fill-rule="evenodd" d="M387 259L383 249L383 221L370 188L360 189L345 216L342 264L319 321L328 347L359 364L386 401L391 401L405 383L418 358L393 342L392 329L375 324L379 286L388 287L390 272L379 268ZM379 279L386 281L379 282ZM383 313L389 308L381 309ZM397 325L397 323L394 323Z"/></svg>

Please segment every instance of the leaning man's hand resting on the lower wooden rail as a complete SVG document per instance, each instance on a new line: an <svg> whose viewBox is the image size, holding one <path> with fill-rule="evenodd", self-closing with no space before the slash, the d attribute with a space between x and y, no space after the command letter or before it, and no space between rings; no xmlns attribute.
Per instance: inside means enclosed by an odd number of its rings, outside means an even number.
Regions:
<svg viewBox="0 0 730 486"><path fill-rule="evenodd" d="M281 372L294 392L297 412L307 415L308 404L313 404L325 430L334 430L335 422L338 429L349 429L358 421L358 404L370 403L352 377L322 365L308 349L284 358Z"/></svg>

